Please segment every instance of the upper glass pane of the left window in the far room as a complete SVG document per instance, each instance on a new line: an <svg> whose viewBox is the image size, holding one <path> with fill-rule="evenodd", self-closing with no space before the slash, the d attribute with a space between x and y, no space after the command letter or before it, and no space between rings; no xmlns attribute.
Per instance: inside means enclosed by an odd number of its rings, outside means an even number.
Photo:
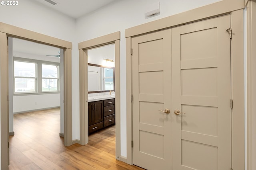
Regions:
<svg viewBox="0 0 256 170"><path fill-rule="evenodd" d="M14 76L36 77L36 63L14 61Z"/></svg>

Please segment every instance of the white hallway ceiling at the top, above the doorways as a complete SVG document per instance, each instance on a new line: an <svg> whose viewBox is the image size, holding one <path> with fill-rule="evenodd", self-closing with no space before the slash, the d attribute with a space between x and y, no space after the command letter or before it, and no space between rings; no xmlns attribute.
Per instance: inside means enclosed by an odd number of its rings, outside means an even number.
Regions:
<svg viewBox="0 0 256 170"><path fill-rule="evenodd" d="M74 19L80 18L94 12L114 1L117 0L32 0L38 2L52 10L61 12ZM55 2L56 4L50 4L47 1Z"/></svg>

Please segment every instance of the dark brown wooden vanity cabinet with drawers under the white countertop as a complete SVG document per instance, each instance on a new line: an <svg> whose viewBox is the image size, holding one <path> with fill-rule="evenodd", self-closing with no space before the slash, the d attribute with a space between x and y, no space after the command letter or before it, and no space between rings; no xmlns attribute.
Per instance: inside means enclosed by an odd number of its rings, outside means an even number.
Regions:
<svg viewBox="0 0 256 170"><path fill-rule="evenodd" d="M115 124L115 99L88 103L89 134Z"/></svg>

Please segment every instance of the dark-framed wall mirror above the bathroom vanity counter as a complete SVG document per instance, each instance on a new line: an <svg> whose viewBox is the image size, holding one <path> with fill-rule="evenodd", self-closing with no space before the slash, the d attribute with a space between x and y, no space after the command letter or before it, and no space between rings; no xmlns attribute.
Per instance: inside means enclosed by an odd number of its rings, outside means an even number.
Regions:
<svg viewBox="0 0 256 170"><path fill-rule="evenodd" d="M115 90L115 68L88 63L88 93Z"/></svg>

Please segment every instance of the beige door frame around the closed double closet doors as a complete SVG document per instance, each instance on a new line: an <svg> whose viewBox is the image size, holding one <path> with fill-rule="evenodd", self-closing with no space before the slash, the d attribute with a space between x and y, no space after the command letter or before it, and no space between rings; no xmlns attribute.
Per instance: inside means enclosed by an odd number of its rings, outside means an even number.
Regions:
<svg viewBox="0 0 256 170"><path fill-rule="evenodd" d="M131 58L131 42L132 37L167 29L184 23L191 23L198 20L213 18L230 14L231 28L233 37L231 40L231 74L232 74L232 100L234 107L232 109L232 168L243 170L245 168L244 160L244 37L243 37L243 9L245 7L244 0L223 0L169 16L160 20L152 21L136 27L125 30L126 37L126 119L127 119L127 160L128 164L132 164L132 102L130 96L132 94L132 58ZM228 29L228 28L227 28Z"/></svg>

